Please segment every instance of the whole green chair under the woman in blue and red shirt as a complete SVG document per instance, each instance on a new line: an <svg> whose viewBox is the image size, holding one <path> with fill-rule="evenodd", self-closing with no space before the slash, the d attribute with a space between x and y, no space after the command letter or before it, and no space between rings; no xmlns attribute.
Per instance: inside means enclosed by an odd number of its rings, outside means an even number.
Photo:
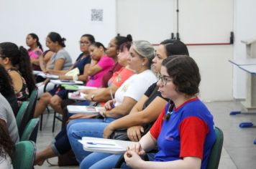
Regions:
<svg viewBox="0 0 256 169"><path fill-rule="evenodd" d="M216 140L214 145L211 148L211 153L209 156L209 161L207 164L206 169L218 169L219 167L219 160L221 158L221 150L222 150L222 145L223 145L223 132L219 127L215 127L215 133L216 133ZM154 151L150 153L157 153ZM144 160L148 160L147 155L145 155ZM119 160L116 162L116 165L114 168L121 168L122 163L124 163L124 155L121 155Z"/></svg>

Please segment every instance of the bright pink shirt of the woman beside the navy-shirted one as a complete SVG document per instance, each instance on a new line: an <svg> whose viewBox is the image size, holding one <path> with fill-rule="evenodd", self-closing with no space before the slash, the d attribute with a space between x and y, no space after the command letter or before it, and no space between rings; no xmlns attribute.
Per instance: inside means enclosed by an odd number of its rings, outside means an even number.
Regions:
<svg viewBox="0 0 256 169"><path fill-rule="evenodd" d="M101 71L97 72L96 74L90 77L89 81L86 83L86 86L101 87L102 77L104 76L104 74L106 74L106 72L109 72L109 69L111 69L114 66L114 59L104 55L103 57L101 57L97 64L102 69Z"/></svg>

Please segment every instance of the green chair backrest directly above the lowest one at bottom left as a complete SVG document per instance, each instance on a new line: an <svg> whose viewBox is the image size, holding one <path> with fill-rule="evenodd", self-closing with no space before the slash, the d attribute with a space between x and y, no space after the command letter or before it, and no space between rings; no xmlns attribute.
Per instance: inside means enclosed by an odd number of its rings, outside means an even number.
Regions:
<svg viewBox="0 0 256 169"><path fill-rule="evenodd" d="M29 120L20 140L21 141L32 140L33 142L36 143L38 125L39 125L39 118L33 118L32 120Z"/></svg>

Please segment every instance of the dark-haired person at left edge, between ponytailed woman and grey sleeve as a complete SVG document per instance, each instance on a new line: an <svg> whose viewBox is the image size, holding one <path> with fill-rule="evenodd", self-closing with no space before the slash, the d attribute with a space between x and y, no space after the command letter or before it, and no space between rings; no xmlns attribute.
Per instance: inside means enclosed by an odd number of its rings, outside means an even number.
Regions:
<svg viewBox="0 0 256 169"><path fill-rule="evenodd" d="M17 115L19 111L19 105L17 97L14 93L14 88L12 87L12 79L6 72L3 66L0 64L0 93L3 95L12 107L14 115Z"/></svg>

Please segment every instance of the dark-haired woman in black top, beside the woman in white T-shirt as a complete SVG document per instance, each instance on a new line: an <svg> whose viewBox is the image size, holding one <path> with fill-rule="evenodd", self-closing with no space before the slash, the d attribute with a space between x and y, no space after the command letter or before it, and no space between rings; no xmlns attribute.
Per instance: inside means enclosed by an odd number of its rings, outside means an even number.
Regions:
<svg viewBox="0 0 256 169"><path fill-rule="evenodd" d="M152 69L159 73L163 59L175 54L188 54L188 49L183 42L173 39L166 39L157 47L156 56L152 60ZM108 138L114 130L127 129L127 137L132 141L139 141L141 135L145 133L152 122L157 120L161 110L166 105L166 100L162 97L157 87L157 83L152 84L145 92L145 95L137 102L126 115L118 120L114 120L106 126L104 137Z"/></svg>

